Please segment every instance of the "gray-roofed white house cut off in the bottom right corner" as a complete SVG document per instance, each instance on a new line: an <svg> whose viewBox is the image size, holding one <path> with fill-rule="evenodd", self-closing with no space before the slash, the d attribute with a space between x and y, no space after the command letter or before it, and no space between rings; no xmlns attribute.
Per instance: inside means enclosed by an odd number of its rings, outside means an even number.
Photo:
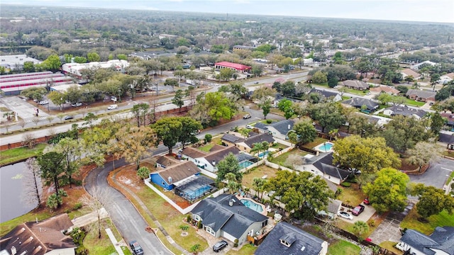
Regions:
<svg viewBox="0 0 454 255"><path fill-rule="evenodd" d="M429 236L414 229L406 229L397 249L406 254L454 254L454 227L436 227Z"/></svg>

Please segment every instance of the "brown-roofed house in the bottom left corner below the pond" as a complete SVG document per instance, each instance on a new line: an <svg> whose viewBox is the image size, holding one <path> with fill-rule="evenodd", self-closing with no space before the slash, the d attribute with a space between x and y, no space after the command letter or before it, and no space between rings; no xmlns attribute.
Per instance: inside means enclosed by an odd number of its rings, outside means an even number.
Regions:
<svg viewBox="0 0 454 255"><path fill-rule="evenodd" d="M66 213L41 222L22 223L0 239L0 254L74 255L77 246L72 237L63 234L72 225Z"/></svg>

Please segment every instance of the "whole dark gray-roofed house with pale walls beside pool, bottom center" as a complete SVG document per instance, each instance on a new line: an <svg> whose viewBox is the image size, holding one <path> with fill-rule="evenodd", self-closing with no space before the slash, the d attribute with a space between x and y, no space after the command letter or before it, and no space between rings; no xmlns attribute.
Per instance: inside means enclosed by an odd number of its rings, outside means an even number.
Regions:
<svg viewBox="0 0 454 255"><path fill-rule="evenodd" d="M192 219L201 222L202 229L213 237L223 237L243 244L268 225L269 218L246 207L236 196L222 194L205 198L191 210Z"/></svg>

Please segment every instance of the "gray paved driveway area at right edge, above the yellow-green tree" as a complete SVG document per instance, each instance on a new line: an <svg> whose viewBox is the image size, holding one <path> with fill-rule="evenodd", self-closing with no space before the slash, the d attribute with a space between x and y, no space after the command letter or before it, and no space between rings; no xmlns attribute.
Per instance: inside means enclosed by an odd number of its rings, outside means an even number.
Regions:
<svg viewBox="0 0 454 255"><path fill-rule="evenodd" d="M409 177L411 181L416 183L443 188L452 171L454 171L454 161L441 158L438 162L432 163L424 174L409 175Z"/></svg>

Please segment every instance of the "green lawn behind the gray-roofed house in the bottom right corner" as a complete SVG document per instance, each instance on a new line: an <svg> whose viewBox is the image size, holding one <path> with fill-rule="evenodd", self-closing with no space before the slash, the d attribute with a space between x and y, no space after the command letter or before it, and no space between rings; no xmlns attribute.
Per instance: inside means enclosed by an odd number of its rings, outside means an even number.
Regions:
<svg viewBox="0 0 454 255"><path fill-rule="evenodd" d="M438 215L428 217L428 223L423 223L418 220L418 212L416 212L416 205L409 212L408 215L401 222L400 227L407 229L415 229L423 234L432 234L433 229L436 227L450 226L454 227L454 217L449 215L448 212L443 210Z"/></svg>

